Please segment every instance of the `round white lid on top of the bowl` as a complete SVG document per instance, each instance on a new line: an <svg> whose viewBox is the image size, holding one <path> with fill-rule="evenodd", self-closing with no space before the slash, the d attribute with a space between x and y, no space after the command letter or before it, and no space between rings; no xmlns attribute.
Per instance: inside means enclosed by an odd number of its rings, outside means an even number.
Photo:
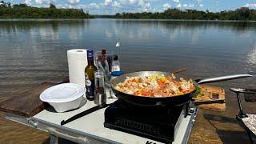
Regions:
<svg viewBox="0 0 256 144"><path fill-rule="evenodd" d="M42 102L70 102L80 98L86 89L75 83L63 83L44 90L40 94Z"/></svg>

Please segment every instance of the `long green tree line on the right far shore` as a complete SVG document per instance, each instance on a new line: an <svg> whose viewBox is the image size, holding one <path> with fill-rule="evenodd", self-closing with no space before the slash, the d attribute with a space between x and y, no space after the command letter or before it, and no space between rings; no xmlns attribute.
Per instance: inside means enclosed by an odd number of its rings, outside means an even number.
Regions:
<svg viewBox="0 0 256 144"><path fill-rule="evenodd" d="M242 7L237 10L210 12L209 10L178 10L168 9L162 13L117 13L103 15L102 18L142 18L142 19L198 19L198 20L256 20L256 10Z"/></svg>

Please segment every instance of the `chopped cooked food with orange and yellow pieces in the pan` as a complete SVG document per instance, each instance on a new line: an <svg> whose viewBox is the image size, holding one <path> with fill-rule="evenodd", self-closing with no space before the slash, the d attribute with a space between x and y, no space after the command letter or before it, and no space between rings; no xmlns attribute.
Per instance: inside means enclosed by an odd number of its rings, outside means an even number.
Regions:
<svg viewBox="0 0 256 144"><path fill-rule="evenodd" d="M163 74L127 77L124 82L119 82L115 89L122 93L145 97L171 97L190 93L194 90L192 79L175 79L174 74L168 77Z"/></svg>

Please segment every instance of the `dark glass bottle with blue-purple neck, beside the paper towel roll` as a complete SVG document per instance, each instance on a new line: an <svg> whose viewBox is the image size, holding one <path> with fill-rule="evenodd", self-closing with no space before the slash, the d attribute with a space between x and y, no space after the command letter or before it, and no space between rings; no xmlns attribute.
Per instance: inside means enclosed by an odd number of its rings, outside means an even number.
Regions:
<svg viewBox="0 0 256 144"><path fill-rule="evenodd" d="M94 50L87 50L87 62L88 65L85 69L85 81L86 81L86 98L90 101L94 100L94 71L97 67L94 66Z"/></svg>

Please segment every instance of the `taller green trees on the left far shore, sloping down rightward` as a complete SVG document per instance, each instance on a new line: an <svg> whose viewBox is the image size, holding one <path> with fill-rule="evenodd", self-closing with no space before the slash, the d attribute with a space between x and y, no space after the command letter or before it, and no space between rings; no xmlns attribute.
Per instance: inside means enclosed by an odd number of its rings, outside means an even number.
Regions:
<svg viewBox="0 0 256 144"><path fill-rule="evenodd" d="M27 6L26 4L11 5L0 2L0 18L92 18L82 9L57 9L54 4L49 8Z"/></svg>

